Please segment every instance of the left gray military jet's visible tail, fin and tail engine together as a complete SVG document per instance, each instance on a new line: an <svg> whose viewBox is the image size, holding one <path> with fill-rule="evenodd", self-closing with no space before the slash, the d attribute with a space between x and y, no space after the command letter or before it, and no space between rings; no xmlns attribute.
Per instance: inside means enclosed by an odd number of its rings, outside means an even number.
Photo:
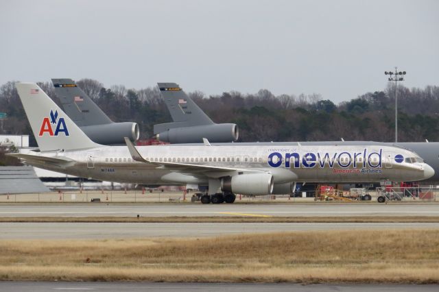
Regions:
<svg viewBox="0 0 439 292"><path fill-rule="evenodd" d="M139 139L137 123L115 123L71 79L52 79L55 94L69 117L91 140L99 144L125 144L123 137Z"/></svg>

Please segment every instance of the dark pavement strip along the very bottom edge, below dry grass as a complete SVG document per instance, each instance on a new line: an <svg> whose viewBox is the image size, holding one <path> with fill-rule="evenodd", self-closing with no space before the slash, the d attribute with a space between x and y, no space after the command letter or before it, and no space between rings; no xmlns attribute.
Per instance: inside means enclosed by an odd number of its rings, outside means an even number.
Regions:
<svg viewBox="0 0 439 292"><path fill-rule="evenodd" d="M412 284L216 284L216 283L127 283L127 282L0 282L0 291L46 292L46 291L296 291L296 292L433 292L437 285Z"/></svg>

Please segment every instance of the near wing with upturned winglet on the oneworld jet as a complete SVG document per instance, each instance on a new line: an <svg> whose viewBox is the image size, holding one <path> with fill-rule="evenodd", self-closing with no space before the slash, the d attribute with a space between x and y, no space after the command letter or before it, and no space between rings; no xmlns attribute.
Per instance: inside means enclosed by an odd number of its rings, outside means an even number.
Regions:
<svg viewBox="0 0 439 292"><path fill-rule="evenodd" d="M143 158L143 156L137 151L136 146L130 141L129 138L125 137L126 145L128 146L128 150L130 151L131 157L133 160L138 162L148 163L151 165L160 165L167 169L173 169L176 171L189 170L192 172L197 171L244 171L244 172L265 172L260 169L239 169L235 167L213 167L210 165L191 165L190 163L180 163L180 162L156 162L152 160L147 160Z"/></svg>

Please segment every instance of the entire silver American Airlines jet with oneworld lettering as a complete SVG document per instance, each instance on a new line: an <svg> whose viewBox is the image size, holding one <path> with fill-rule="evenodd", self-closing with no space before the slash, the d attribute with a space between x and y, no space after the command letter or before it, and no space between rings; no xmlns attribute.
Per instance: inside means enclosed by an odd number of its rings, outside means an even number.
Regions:
<svg viewBox="0 0 439 292"><path fill-rule="evenodd" d="M203 203L235 194L292 193L296 182L417 181L434 169L414 152L383 145L104 146L71 121L35 83L16 83L40 151L10 154L28 165L82 178L209 186ZM406 160L405 158L412 158ZM410 161L410 162L409 162Z"/></svg>

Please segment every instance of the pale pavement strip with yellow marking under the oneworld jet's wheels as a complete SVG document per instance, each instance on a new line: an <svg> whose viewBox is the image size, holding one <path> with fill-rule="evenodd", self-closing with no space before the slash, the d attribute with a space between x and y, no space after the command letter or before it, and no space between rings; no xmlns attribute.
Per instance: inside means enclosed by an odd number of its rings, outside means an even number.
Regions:
<svg viewBox="0 0 439 292"><path fill-rule="evenodd" d="M439 216L439 204L0 204L19 216Z"/></svg>

